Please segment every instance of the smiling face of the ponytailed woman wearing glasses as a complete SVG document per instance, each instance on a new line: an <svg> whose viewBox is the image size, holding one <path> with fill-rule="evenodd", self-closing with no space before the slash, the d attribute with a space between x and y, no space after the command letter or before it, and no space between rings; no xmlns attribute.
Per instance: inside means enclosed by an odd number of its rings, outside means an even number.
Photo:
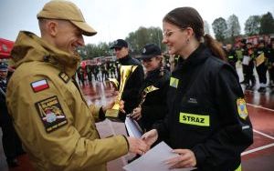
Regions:
<svg viewBox="0 0 274 171"><path fill-rule="evenodd" d="M184 55L187 33L176 25L163 21L163 44L167 45L170 55Z"/></svg>

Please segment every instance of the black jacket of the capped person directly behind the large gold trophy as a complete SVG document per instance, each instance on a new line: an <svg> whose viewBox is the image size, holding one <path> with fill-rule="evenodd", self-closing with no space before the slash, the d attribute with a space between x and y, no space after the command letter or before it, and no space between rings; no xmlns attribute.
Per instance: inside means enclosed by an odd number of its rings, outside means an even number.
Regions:
<svg viewBox="0 0 274 171"><path fill-rule="evenodd" d="M133 108L138 106L140 100L139 91L142 86L144 74L141 62L132 58L130 55L120 58L119 63L121 65L138 65L128 79L121 96L121 99L124 101L124 110L129 114L132 112ZM118 75L118 81L120 82L120 73Z"/></svg>

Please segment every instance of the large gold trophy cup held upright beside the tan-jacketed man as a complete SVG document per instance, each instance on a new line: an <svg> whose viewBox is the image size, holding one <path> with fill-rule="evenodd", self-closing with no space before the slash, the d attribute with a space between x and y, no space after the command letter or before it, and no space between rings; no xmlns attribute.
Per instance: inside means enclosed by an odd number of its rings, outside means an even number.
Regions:
<svg viewBox="0 0 274 171"><path fill-rule="evenodd" d="M106 112L107 117L118 117L119 116L119 109L120 109L120 101L121 101L121 96L122 92L124 89L124 86L126 85L126 82L128 81L129 77L132 75L132 73L135 71L137 68L137 65L121 65L120 68L120 88L119 88L119 94L117 99L115 100L114 106L112 106L111 109L108 109ZM110 79L111 82L115 82ZM117 83L114 83L115 85Z"/></svg>

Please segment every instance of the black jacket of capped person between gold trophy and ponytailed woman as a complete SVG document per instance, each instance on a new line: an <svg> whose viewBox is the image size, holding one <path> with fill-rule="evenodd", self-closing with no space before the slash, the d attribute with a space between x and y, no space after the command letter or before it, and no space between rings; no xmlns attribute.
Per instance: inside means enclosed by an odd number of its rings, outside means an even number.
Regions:
<svg viewBox="0 0 274 171"><path fill-rule="evenodd" d="M158 68L149 72L145 77L141 92L150 85L159 89L148 93L142 104L142 118L140 123L143 130L151 130L153 124L158 120L163 120L167 113L166 96L170 76L171 74L167 70L163 70L163 75L160 75L160 68Z"/></svg>

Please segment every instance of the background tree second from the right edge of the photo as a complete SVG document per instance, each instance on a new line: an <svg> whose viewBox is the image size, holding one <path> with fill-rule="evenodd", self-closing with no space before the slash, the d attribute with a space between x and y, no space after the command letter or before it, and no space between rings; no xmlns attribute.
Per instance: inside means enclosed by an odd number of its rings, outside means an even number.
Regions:
<svg viewBox="0 0 274 171"><path fill-rule="evenodd" d="M251 15L245 23L245 34L246 35L258 35L260 27L260 16Z"/></svg>

